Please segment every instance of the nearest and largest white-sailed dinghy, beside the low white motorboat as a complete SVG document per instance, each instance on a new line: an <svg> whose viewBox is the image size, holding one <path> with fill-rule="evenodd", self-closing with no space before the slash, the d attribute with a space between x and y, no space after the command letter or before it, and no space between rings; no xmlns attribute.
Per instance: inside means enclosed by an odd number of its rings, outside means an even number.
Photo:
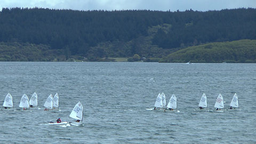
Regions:
<svg viewBox="0 0 256 144"><path fill-rule="evenodd" d="M82 103L79 101L76 103L75 107L71 111L69 117L76 119L76 122L70 122L71 125L81 126L83 125L83 106Z"/></svg>

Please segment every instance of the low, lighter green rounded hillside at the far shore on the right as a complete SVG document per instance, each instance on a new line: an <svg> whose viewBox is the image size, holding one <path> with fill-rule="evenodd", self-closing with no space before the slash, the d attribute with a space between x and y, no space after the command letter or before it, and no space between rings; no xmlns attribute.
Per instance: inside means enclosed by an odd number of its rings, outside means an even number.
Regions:
<svg viewBox="0 0 256 144"><path fill-rule="evenodd" d="M256 62L256 40L209 43L173 52L161 62Z"/></svg>

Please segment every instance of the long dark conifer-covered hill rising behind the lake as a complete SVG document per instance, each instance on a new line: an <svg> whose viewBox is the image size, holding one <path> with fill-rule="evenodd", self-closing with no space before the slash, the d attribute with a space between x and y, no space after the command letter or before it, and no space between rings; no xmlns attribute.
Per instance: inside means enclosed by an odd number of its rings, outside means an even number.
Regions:
<svg viewBox="0 0 256 144"><path fill-rule="evenodd" d="M256 9L199 12L2 9L0 42L46 45L58 54L162 58L211 42L256 39ZM1 56L1 53L0 53Z"/></svg>

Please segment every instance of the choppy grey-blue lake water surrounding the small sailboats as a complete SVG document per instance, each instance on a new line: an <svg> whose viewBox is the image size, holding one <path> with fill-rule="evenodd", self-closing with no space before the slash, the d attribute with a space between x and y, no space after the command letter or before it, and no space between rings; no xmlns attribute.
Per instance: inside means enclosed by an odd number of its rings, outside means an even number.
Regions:
<svg viewBox="0 0 256 144"><path fill-rule="evenodd" d="M0 111L0 143L256 143L255 63L0 62L1 105L9 92L15 109L24 93L38 94L41 110ZM44 111L58 92L61 111ZM153 108L158 93L175 93L180 113ZM225 107L236 92L241 111L200 111L221 93ZM71 121L84 106L84 126L47 126Z"/></svg>

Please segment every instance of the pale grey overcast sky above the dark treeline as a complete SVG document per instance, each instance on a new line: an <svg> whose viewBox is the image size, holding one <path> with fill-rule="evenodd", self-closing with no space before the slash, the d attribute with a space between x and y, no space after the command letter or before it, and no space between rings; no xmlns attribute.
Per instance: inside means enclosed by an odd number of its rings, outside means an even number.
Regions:
<svg viewBox="0 0 256 144"><path fill-rule="evenodd" d="M3 7L42 7L72 10L208 11L256 8L256 0L0 0Z"/></svg>

